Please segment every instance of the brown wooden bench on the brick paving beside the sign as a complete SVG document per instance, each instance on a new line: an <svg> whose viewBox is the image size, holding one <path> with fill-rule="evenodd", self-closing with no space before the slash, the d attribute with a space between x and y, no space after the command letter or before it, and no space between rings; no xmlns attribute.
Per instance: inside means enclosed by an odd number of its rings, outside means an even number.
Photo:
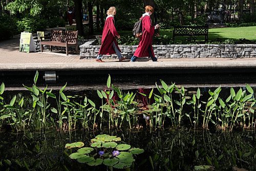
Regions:
<svg viewBox="0 0 256 171"><path fill-rule="evenodd" d="M49 41L42 40L49 39ZM53 46L66 47L66 54L69 55L69 47L76 47L76 53L78 53L77 45L78 32L77 31L62 31L62 30L51 30L50 36L40 37L41 40L41 52L44 51L44 45L49 45L52 51Z"/></svg>

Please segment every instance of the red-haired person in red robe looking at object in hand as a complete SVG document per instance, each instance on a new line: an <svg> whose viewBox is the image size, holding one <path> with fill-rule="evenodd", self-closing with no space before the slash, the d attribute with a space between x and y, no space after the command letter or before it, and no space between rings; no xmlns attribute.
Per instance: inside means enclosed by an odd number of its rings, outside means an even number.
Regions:
<svg viewBox="0 0 256 171"><path fill-rule="evenodd" d="M157 61L155 57L152 41L155 29L158 29L160 26L152 26L152 21L150 15L154 13L154 8L150 5L145 7L145 13L140 19L142 19L142 37L140 37L139 46L136 49L131 62L135 62L138 57L150 56L153 61Z"/></svg>

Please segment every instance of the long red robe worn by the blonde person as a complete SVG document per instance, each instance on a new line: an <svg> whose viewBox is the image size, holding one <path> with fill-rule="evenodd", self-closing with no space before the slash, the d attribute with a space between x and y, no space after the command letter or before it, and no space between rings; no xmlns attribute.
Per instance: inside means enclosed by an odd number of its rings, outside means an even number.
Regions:
<svg viewBox="0 0 256 171"><path fill-rule="evenodd" d="M101 55L111 55L115 54L115 50L113 48L113 43L116 44L117 49L120 51L116 36L119 35L116 31L114 25L114 17L108 17L105 20L105 25L103 28L102 38L101 38L101 47L99 49L99 54Z"/></svg>

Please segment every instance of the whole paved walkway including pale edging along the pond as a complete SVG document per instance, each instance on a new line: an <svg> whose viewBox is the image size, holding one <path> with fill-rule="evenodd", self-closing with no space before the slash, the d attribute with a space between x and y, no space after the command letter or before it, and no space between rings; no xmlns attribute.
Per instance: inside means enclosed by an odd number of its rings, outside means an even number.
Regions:
<svg viewBox="0 0 256 171"><path fill-rule="evenodd" d="M179 58L159 59L152 62L138 59L136 62L118 59L80 59L79 54L66 56L61 52L19 52L19 37L0 41L0 70L101 70L101 69L170 69L170 68L256 68L256 58Z"/></svg>

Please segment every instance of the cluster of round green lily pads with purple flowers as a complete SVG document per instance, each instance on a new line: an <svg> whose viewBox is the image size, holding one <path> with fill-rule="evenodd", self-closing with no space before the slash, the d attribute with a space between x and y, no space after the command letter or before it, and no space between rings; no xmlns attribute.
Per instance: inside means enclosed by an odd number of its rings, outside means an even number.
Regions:
<svg viewBox="0 0 256 171"><path fill-rule="evenodd" d="M117 144L120 137L110 135L97 135L91 139L91 147L79 148L77 152L69 155L79 163L86 163L89 166L104 164L110 168L128 168L135 161L133 155L144 152L140 148L131 148L129 144ZM82 142L66 144L66 148L82 147ZM96 155L95 155L96 152ZM98 155L97 155L98 154ZM113 169L113 168L112 168Z"/></svg>

